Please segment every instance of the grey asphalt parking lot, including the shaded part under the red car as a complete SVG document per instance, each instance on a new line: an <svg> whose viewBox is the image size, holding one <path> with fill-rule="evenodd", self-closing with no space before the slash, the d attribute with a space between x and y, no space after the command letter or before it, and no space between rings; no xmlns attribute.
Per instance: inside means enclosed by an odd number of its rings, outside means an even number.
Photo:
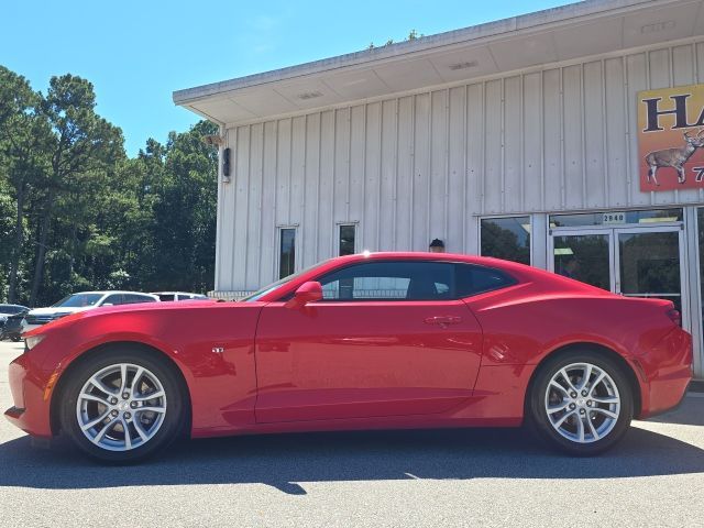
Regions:
<svg viewBox="0 0 704 528"><path fill-rule="evenodd" d="M11 405L0 343L0 407ZM520 430L184 441L142 465L35 449L0 421L0 526L704 526L704 394L572 459Z"/></svg>

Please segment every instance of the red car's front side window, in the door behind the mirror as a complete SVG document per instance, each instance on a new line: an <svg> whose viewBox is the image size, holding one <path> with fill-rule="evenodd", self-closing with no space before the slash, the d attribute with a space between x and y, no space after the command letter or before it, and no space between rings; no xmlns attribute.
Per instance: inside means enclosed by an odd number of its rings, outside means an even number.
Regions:
<svg viewBox="0 0 704 528"><path fill-rule="evenodd" d="M385 261L337 270L318 279L322 300L447 300L454 289L451 263Z"/></svg>

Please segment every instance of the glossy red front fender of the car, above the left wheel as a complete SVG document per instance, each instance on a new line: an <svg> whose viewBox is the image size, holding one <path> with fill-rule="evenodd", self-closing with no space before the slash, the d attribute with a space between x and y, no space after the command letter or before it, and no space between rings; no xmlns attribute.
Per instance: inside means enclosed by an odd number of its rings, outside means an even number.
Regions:
<svg viewBox="0 0 704 528"><path fill-rule="evenodd" d="M254 332L261 306L211 304L183 309L105 312L47 328L30 354L45 373L45 392L85 354L111 343L138 343L178 367L191 402L191 433L254 424Z"/></svg>

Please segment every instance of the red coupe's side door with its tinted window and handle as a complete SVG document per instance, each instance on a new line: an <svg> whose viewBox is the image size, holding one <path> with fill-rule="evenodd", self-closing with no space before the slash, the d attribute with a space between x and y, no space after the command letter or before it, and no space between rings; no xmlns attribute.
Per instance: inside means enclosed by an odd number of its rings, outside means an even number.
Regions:
<svg viewBox="0 0 704 528"><path fill-rule="evenodd" d="M452 263L372 261L318 277L323 299L275 301L255 341L257 422L447 411L472 395L482 331Z"/></svg>

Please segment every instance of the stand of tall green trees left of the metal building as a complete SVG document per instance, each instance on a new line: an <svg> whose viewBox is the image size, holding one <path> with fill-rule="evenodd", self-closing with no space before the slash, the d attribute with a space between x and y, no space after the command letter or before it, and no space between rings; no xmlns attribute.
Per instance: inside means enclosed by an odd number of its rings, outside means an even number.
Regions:
<svg viewBox="0 0 704 528"><path fill-rule="evenodd" d="M36 306L85 289L212 287L217 133L202 121L128 158L92 85L46 96L0 67L0 298Z"/></svg>

